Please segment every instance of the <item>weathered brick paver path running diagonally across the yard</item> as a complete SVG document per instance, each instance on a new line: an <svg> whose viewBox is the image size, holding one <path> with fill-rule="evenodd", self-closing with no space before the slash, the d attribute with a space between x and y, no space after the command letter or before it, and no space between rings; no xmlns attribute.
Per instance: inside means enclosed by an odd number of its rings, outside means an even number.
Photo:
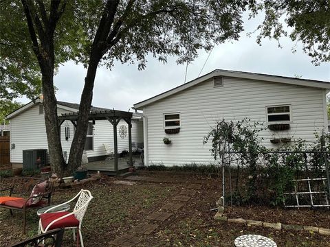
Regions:
<svg viewBox="0 0 330 247"><path fill-rule="evenodd" d="M144 180L148 182L159 182L159 179L148 178L148 177L136 177L133 176L133 180ZM143 179L141 179L143 178ZM148 178L145 180L145 178ZM179 194L171 198L172 202L167 202L161 209L154 211L151 215L146 217L146 220L150 221L137 224L135 227L131 228L129 234L124 234L120 237L117 237L112 242L110 242L111 246L118 246L118 247L133 247L136 244L142 242L148 235L153 233L159 226L158 224L154 224L153 222L158 222L162 224L165 220L168 220L175 211L181 209L184 206L184 202L188 202L191 196L195 196L198 189L201 189L203 185L200 184L189 184L187 189L182 189ZM181 203L178 203L181 202ZM138 236L138 237L137 237Z"/></svg>

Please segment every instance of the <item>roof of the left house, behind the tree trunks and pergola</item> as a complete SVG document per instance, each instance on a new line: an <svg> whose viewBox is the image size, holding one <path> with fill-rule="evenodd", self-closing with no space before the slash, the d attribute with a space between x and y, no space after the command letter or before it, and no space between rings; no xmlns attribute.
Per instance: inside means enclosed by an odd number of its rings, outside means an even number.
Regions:
<svg viewBox="0 0 330 247"><path fill-rule="evenodd" d="M29 108L31 108L32 106L34 106L35 104L41 104L43 103L42 99L34 99L31 102L29 102L28 104L25 104L24 106L21 106L21 108L18 108L17 110L14 110L12 113L8 114L7 116L5 116L5 119L12 119L13 117L19 115L20 113L23 113L25 110L28 110ZM79 104L75 104L75 103L70 103L70 102L61 102L58 101L57 102L58 108L63 108L64 110L70 110L74 113L77 113L79 110ZM101 107L96 107L96 106L91 106L91 112L100 112L100 111L111 111L114 109L109 109L109 108L101 108ZM133 119L140 119L140 115L137 115L135 113L133 113Z"/></svg>

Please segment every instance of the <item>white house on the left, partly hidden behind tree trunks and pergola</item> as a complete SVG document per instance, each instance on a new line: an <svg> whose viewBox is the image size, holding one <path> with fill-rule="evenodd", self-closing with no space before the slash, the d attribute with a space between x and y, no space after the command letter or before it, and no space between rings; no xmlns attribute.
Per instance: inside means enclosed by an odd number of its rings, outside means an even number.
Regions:
<svg viewBox="0 0 330 247"><path fill-rule="evenodd" d="M57 102L58 115L62 113L76 113L79 105L68 102ZM91 107L91 111L109 110ZM48 149L46 127L44 119L42 99L25 104L6 118L10 120L10 162L13 166L23 163L23 150ZM122 128L120 128L123 126ZM65 134L65 127L69 134ZM126 122L121 120L118 124L118 152L129 150L128 134L121 130L128 128ZM121 132L120 132L121 131ZM66 138L69 137L69 138ZM61 125L61 142L63 153L69 155L72 139L74 137L74 126L70 121ZM140 115L133 114L132 117L132 143L143 142L143 124ZM95 121L89 124L85 150L89 161L97 161L105 158L107 152L103 144L107 143L113 147L113 126L107 120Z"/></svg>

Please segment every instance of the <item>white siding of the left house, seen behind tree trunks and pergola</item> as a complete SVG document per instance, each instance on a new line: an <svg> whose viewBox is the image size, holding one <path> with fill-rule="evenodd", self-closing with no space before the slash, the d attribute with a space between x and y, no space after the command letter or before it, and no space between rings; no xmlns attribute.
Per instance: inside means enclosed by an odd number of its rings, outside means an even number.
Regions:
<svg viewBox="0 0 330 247"><path fill-rule="evenodd" d="M70 113L69 110L63 110L58 105L58 115L62 113ZM127 126L124 120L118 124ZM70 138L65 140L65 126L69 126ZM128 126L127 126L128 128ZM61 125L61 142L63 152L67 152L67 160L71 148L72 139L74 138L74 126L71 121L65 121ZM108 143L113 147L113 126L107 120L96 121L93 133L93 150L87 151L88 157L104 156L106 152L103 143ZM142 121L132 120L132 142L143 142L143 126ZM45 127L44 115L39 115L39 104L36 104L23 111L19 115L10 119L10 143L15 144L15 148L10 150L10 162L22 163L23 150L28 149L48 149L47 135ZM129 150L128 134L125 139L121 139L118 133L118 152Z"/></svg>

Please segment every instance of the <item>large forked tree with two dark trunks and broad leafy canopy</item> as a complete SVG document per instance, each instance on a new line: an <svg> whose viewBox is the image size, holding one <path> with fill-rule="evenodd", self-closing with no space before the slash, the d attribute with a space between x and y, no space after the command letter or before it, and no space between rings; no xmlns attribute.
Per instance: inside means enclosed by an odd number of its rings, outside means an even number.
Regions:
<svg viewBox="0 0 330 247"><path fill-rule="evenodd" d="M15 30L14 24L14 34L8 35L8 39L18 36L17 40L21 39L21 45L28 54L35 56L37 62L31 58L31 68L36 68L37 64L41 71L50 158L52 168L59 173L65 169L72 170L80 164L94 80L100 64L111 68L114 60L120 60L137 62L139 69L143 69L147 54L153 54L163 62L166 62L168 55L177 56L179 63L191 62L197 57L198 49L210 50L214 44L238 39L243 30L241 14L245 8L252 10L252 15L261 8L267 8L261 36L272 33L273 23L279 26L276 22L279 14L272 18L272 13L291 10L283 7L286 1L278 7L275 1L256 5L254 0L21 0L21 3L10 1L5 6L6 2L0 2L1 12L3 9L10 11L11 17L6 14L7 18L19 22L19 27L25 28L24 34L29 34L21 35ZM298 23L299 19L293 22ZM310 29L307 25L304 27ZM278 28L276 30L275 38L280 32ZM6 36L1 34L1 49L5 39ZM323 36L322 40L319 39L320 43L322 41L325 44L329 42ZM20 60L17 53L4 56L9 60L11 56L15 61ZM56 66L70 59L82 62L87 67L87 75L67 167L59 138L53 76ZM327 57L323 60L327 60Z"/></svg>

